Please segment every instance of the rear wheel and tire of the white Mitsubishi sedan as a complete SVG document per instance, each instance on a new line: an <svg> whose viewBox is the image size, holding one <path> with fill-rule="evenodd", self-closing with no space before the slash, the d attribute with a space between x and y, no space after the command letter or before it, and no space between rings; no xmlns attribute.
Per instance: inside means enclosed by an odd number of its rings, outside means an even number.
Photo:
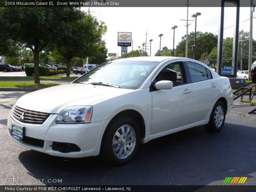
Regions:
<svg viewBox="0 0 256 192"><path fill-rule="evenodd" d="M226 118L226 110L222 101L217 101L212 109L209 123L205 128L210 132L218 132L222 129Z"/></svg>

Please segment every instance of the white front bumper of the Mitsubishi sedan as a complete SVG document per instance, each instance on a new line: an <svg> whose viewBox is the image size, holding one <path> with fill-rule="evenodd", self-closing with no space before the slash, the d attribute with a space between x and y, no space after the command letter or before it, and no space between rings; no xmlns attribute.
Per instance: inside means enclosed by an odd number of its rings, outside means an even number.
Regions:
<svg viewBox="0 0 256 192"><path fill-rule="evenodd" d="M80 158L99 155L101 140L110 119L88 124L56 124L57 116L57 114L50 115L44 124L34 125L19 122L12 115L9 115L7 121L9 134L12 140L20 145L52 156ZM24 126L25 136L40 140L43 142L43 145L36 146L33 143L23 142L14 138L12 136L12 123ZM62 153L52 150L51 145L53 142L72 143L81 150L78 152Z"/></svg>

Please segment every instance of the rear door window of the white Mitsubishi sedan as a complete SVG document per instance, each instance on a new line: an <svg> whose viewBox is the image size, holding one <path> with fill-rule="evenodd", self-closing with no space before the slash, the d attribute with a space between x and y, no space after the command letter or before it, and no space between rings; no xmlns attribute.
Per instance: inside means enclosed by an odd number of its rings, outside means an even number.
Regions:
<svg viewBox="0 0 256 192"><path fill-rule="evenodd" d="M211 72L200 64L187 62L192 82L204 81L212 78ZM206 71L208 70L208 71ZM210 74L209 74L210 73Z"/></svg>

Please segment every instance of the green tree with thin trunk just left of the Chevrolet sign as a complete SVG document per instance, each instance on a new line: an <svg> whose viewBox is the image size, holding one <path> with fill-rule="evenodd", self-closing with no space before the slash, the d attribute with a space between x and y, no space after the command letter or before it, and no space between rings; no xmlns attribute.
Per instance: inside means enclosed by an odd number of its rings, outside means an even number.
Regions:
<svg viewBox="0 0 256 192"><path fill-rule="evenodd" d="M73 57L86 58L93 56L107 31L104 22L99 22L91 14L80 12L80 19L70 23L70 33L60 39L57 51L67 63L67 76L70 76L69 66ZM97 52L97 51L96 51Z"/></svg>

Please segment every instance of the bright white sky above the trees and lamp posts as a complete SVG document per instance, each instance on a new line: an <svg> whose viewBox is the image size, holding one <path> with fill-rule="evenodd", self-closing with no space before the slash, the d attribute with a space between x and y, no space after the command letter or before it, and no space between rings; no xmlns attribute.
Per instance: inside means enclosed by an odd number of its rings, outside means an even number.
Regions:
<svg viewBox="0 0 256 192"><path fill-rule="evenodd" d="M184 0L184 4L186 1ZM82 7L85 12L88 8ZM200 12L201 16L197 17L196 31L211 32L218 35L220 23L220 7L189 7L188 20L194 20L191 15ZM235 23L235 7L226 7L224 11L224 38L233 37ZM121 55L121 47L117 46L118 32L132 32L133 46L128 47L128 52L142 48L142 43L146 41L147 52L149 54L149 39L153 39L151 44L151 55L154 56L160 46L159 34L161 37L161 48L166 46L173 48L173 30L175 29L174 47L181 41L181 37L186 35L187 7L91 7L90 12L98 20L104 21L108 27L107 33L103 36L109 53ZM253 18L256 16L254 12ZM183 19L183 20L180 20ZM250 27L250 7L240 7L239 31L249 32ZM195 21L189 21L189 32L195 31ZM253 19L252 33L253 39L256 39L256 18ZM232 27L230 27L232 26ZM140 49L141 49L140 48Z"/></svg>

